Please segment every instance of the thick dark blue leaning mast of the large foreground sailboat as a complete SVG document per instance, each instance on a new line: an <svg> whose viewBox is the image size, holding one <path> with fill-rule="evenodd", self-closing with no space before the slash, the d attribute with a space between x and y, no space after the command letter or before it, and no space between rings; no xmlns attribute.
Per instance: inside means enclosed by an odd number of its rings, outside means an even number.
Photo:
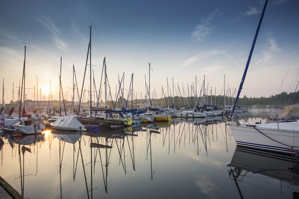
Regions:
<svg viewBox="0 0 299 199"><path fill-rule="evenodd" d="M260 27L261 27L261 24L262 24L262 21L263 21L263 17L264 17L264 13L265 13L265 10L266 10L267 2L268 2L268 0L266 0L265 4L264 4L263 12L262 12L262 15L261 15L261 18L260 18L260 21L259 21L259 25L258 25L256 33L255 33L253 42L252 42L252 46L251 46L251 49L250 49L250 52L249 52L249 56L248 56L248 60L247 60L247 63L246 63L246 67L245 67L245 70L244 70L244 73L243 73L243 77L242 77L242 80L241 80L241 83L240 83L240 86L239 86L239 90L238 90L238 94L237 94L235 103L233 105L233 108L232 108L232 111L231 111L231 114L230 114L230 118L232 117L232 114L233 114L233 112L234 112L234 110L236 108L239 96L241 94L241 90L243 88L243 83L244 83L245 78L246 78L246 73L247 73L248 66L249 66L249 63L250 63L250 60L251 60L251 56L252 56L252 53L253 53L253 50L254 50L255 42L256 42L256 39L258 37L259 31L260 31Z"/></svg>

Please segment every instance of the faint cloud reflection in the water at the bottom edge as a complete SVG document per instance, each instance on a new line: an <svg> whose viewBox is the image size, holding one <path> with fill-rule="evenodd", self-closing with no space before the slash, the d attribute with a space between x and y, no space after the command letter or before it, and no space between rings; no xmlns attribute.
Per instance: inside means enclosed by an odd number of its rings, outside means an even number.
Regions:
<svg viewBox="0 0 299 199"><path fill-rule="evenodd" d="M220 192L209 176L197 176L195 178L195 184L199 187L200 192L203 193L207 199L215 199L216 192Z"/></svg>

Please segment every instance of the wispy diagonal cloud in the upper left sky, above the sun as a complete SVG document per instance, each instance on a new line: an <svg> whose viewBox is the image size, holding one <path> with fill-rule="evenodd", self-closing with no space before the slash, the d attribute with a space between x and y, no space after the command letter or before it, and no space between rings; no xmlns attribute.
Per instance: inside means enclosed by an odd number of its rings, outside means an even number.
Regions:
<svg viewBox="0 0 299 199"><path fill-rule="evenodd" d="M49 18L41 19L35 17L35 19L50 30L50 32L53 35L54 46L56 46L58 49L62 51L67 51L69 49L67 43L61 38L61 31Z"/></svg>

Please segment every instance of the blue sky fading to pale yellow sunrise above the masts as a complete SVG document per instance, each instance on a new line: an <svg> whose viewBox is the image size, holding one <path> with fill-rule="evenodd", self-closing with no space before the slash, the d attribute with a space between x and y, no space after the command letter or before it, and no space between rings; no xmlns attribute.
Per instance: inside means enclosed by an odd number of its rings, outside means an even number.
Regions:
<svg viewBox="0 0 299 199"><path fill-rule="evenodd" d="M51 81L53 99L59 98L62 57L61 82L64 96L70 100L73 65L79 90L82 88L90 25L95 83L98 89L106 57L113 97L118 76L124 73L127 95L134 73L134 95L144 98L148 63L151 93L156 91L158 98L162 87L167 96L166 78L171 93L174 80L176 89L177 85L181 92L184 88L187 96L195 77L200 92L205 76L208 92L212 88L214 94L216 87L219 95L225 75L226 89L231 88L232 93L239 87L263 6L264 0L3 0L0 83L4 78L4 101L13 99L13 84L14 100L18 98L22 42L26 43L27 99L34 99L36 81L46 99ZM241 97L294 92L299 73L298 36L298 0L269 0ZM84 89L88 86L89 66ZM87 96L86 92L84 99Z"/></svg>

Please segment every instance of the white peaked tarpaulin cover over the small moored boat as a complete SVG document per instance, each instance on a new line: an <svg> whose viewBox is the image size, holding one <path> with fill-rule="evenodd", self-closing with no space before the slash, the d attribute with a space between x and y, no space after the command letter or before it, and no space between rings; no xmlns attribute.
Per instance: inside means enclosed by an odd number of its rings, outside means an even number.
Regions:
<svg viewBox="0 0 299 199"><path fill-rule="evenodd" d="M75 116L60 116L51 127L63 131L87 131L85 126Z"/></svg>

